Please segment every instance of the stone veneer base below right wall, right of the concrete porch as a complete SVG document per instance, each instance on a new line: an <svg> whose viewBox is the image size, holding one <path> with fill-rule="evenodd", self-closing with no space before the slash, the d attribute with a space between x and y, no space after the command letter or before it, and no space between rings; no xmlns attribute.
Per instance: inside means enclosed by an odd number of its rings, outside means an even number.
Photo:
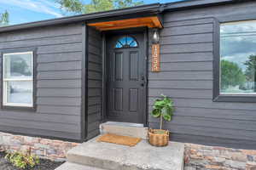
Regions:
<svg viewBox="0 0 256 170"><path fill-rule="evenodd" d="M185 144L184 170L256 170L256 150Z"/></svg>

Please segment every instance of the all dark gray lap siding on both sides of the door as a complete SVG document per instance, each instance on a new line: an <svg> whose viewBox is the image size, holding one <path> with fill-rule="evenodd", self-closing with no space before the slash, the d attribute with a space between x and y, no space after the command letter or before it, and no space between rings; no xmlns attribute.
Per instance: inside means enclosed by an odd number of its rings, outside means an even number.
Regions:
<svg viewBox="0 0 256 170"><path fill-rule="evenodd" d="M246 19L255 15L255 8L253 2L234 3L163 14L161 71L150 72L148 62L148 111L160 94L172 97L175 116L165 122L172 140L255 149L256 105L212 101L215 22ZM0 52L38 49L37 111L0 110L0 131L81 139L82 39L82 23L0 33ZM149 49L150 45L149 41ZM88 108L84 110L90 139L99 133L102 116L102 36L90 27L86 53ZM149 127L159 126L148 117Z"/></svg>

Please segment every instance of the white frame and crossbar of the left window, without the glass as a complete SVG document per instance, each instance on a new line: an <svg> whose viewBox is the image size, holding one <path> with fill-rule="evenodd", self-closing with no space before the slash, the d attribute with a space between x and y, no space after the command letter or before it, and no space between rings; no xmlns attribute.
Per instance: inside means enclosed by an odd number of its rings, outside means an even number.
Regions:
<svg viewBox="0 0 256 170"><path fill-rule="evenodd" d="M31 54L32 56L32 76L30 78L5 78L5 57L6 55L13 55L13 54ZM9 103L7 102L7 82L32 82L33 83L33 77L34 77L34 52L33 51L27 51L27 52L21 52L21 53L4 53L3 54L3 106L17 106L17 107L33 107L34 105L34 99L33 99L33 93L34 93L34 87L32 85L32 104L17 104L17 103Z"/></svg>

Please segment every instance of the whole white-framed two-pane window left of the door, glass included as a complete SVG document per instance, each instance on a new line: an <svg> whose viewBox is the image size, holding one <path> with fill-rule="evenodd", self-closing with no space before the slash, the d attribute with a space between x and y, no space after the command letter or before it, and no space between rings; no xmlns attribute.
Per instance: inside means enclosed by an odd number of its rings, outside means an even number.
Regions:
<svg viewBox="0 0 256 170"><path fill-rule="evenodd" d="M33 52L3 54L3 106L33 107Z"/></svg>

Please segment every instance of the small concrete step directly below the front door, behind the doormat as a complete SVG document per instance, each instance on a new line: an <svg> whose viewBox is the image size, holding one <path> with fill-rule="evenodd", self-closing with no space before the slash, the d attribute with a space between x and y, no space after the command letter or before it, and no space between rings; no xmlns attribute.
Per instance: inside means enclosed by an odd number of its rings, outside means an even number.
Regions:
<svg viewBox="0 0 256 170"><path fill-rule="evenodd" d="M148 127L143 127L143 124L129 122L105 122L101 124L100 128L102 133L114 133L142 139L148 138Z"/></svg>

